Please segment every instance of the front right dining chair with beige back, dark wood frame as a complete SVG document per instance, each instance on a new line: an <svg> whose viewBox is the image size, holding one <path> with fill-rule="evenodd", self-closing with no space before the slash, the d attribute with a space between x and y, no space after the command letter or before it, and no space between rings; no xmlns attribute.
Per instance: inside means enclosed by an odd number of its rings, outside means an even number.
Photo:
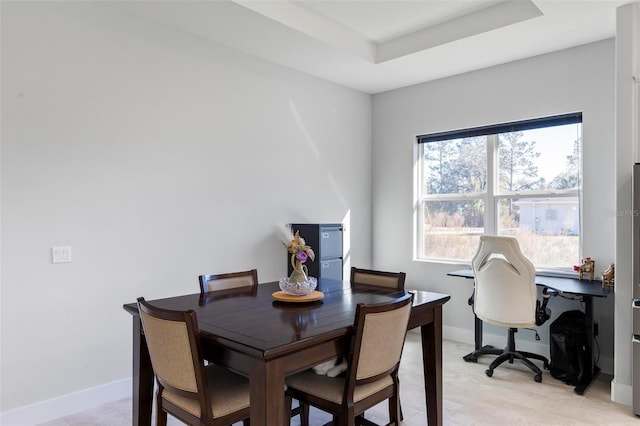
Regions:
<svg viewBox="0 0 640 426"><path fill-rule="evenodd" d="M312 369L287 377L285 418L295 398L331 413L334 424L371 424L361 414L388 400L389 424L398 425L398 369L412 301L413 294L406 293L390 302L358 304L345 377L320 376Z"/></svg>

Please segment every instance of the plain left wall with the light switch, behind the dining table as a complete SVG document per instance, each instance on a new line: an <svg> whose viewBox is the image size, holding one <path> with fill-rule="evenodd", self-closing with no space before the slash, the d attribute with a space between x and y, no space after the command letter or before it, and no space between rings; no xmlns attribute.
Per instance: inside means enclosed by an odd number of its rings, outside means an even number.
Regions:
<svg viewBox="0 0 640 426"><path fill-rule="evenodd" d="M0 411L130 378L138 296L283 276L276 223L345 221L370 265L369 95L118 2L1 7Z"/></svg>

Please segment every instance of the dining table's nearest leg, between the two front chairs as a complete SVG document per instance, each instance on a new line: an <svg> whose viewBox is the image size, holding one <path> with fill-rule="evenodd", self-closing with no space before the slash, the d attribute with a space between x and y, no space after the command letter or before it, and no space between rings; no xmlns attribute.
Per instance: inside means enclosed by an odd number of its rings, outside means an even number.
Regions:
<svg viewBox="0 0 640 426"><path fill-rule="evenodd" d="M280 360L255 361L250 375L251 426L284 424L284 369Z"/></svg>

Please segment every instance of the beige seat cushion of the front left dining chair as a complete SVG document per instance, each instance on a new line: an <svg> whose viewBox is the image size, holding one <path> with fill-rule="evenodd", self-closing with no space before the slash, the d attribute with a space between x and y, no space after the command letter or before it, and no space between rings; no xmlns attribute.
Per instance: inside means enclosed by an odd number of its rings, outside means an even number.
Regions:
<svg viewBox="0 0 640 426"><path fill-rule="evenodd" d="M206 370L214 417L249 407L249 381L246 378L217 365L209 365ZM194 416L200 416L197 399L185 398L167 389L163 392L163 397Z"/></svg>

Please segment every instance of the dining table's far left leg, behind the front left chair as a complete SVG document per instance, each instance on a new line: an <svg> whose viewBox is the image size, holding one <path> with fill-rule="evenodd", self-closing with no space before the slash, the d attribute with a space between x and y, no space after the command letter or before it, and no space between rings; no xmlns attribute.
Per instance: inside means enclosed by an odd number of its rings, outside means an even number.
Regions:
<svg viewBox="0 0 640 426"><path fill-rule="evenodd" d="M133 316L133 426L150 426L153 407L153 368L138 315Z"/></svg>

